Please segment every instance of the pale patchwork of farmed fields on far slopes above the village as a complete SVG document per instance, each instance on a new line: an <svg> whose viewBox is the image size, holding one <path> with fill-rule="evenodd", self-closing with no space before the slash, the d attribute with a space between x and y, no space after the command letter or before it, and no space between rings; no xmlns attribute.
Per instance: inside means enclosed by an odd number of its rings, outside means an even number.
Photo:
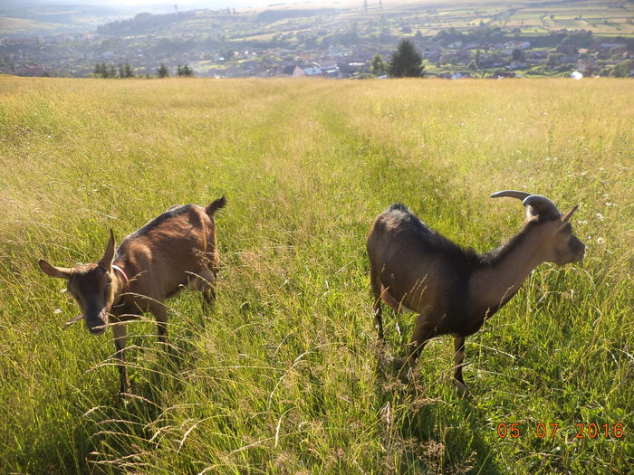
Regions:
<svg viewBox="0 0 634 475"><path fill-rule="evenodd" d="M634 34L634 8L631 2L597 0L524 0L509 3L505 0L390 0L379 3L351 2L293 2L275 3L258 8L238 8L237 16L225 15L224 9L207 5L195 16L184 15L154 29L158 37L182 38L196 33L197 37L222 37L235 45L250 41L270 41L274 35L287 39L305 34L350 32L361 36L376 35L386 28L390 33L404 34L408 25L411 33L418 30L433 36L441 30L456 28L460 31L486 26L519 29L524 34L547 34L563 28L591 31L595 35L629 37ZM199 8L204 6L199 4ZM193 6L190 5L193 9ZM186 8L188 9L188 8ZM149 7L148 10L156 10ZM170 10L171 12L171 10ZM266 12L267 18L258 16ZM0 34L49 34L94 31L100 24L129 19L139 9L95 5L24 5L2 9L0 5ZM139 42L147 42L148 31L134 29ZM127 34L124 34L127 36ZM84 40L85 42L85 40ZM303 40L299 40L303 43ZM235 46L242 48L242 46Z"/></svg>

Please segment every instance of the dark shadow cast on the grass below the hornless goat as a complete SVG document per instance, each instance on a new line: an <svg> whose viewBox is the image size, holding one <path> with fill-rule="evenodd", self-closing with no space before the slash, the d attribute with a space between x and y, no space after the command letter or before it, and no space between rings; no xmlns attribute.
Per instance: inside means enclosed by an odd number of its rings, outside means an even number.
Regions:
<svg viewBox="0 0 634 475"><path fill-rule="evenodd" d="M185 390L183 375L197 361L195 338L211 318L195 312L191 318L175 322L180 328L168 328L168 343L161 344L154 334L130 332L127 366L130 375L130 393L119 394L119 385L103 388L101 397L86 413L78 414L80 423L74 429L72 451L63 457L68 473L119 474L152 472L147 456L159 450L163 433L169 431L169 406L174 404L166 394L180 394ZM177 317L180 318L180 317ZM174 318L174 319L177 319ZM149 323L156 328L155 323ZM149 327L148 327L149 328ZM156 330L155 330L156 331ZM111 357L101 365L119 375L118 361ZM109 378L110 379L110 378ZM111 378L113 379L113 378ZM77 406L85 407L78 403ZM169 444L168 444L169 445ZM168 448L168 446L166 446ZM59 451L58 451L59 453ZM150 459L151 460L151 459Z"/></svg>

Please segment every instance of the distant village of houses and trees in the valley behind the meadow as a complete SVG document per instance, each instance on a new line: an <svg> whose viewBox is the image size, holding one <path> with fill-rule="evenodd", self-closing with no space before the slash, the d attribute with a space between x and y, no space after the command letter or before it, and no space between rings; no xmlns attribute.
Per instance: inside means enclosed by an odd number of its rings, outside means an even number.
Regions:
<svg viewBox="0 0 634 475"><path fill-rule="evenodd" d="M372 59L379 54L389 62L401 38L416 45L427 77L634 76L631 38L595 38L583 30L526 36L499 27L471 33L452 28L434 36L408 32L364 38L355 34L330 41L316 36L296 44L283 34L269 42L251 43L219 43L193 33L171 40L141 40L108 32L2 38L0 72L85 78L99 76L106 65L118 77L117 71L126 64L134 76L157 76L162 64L168 75L177 75L178 66L187 65L195 76L211 78L383 78L385 72L374 71Z"/></svg>

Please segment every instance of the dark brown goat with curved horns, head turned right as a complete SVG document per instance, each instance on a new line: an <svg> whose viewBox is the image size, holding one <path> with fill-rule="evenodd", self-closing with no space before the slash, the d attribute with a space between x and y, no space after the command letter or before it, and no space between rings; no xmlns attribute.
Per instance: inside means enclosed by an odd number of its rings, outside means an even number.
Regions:
<svg viewBox="0 0 634 475"><path fill-rule="evenodd" d="M383 339L381 300L396 311L418 313L408 356L395 360L398 367L407 362L411 370L427 340L453 335L453 382L461 394L468 394L462 377L465 337L476 333L485 319L511 299L540 263L581 261L585 253L569 223L578 205L562 215L540 195L502 191L491 196L519 198L526 207L522 230L492 252L478 254L459 247L428 228L403 204L391 204L379 214L368 235L379 339Z"/></svg>

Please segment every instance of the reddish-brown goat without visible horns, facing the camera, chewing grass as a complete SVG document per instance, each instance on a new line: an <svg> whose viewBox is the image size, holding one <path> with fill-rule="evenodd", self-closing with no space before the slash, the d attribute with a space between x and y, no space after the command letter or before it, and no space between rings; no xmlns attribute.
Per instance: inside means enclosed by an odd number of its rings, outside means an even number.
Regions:
<svg viewBox="0 0 634 475"><path fill-rule="evenodd" d="M216 298L218 252L214 213L225 206L216 199L207 207L197 204L173 206L139 230L128 235L117 251L114 236L100 261L75 268L54 267L40 260L40 268L51 277L68 280L68 292L93 335L112 325L120 360L120 393L130 389L125 366L126 324L143 312L157 318L159 340L167 342L168 310L163 301L184 287L201 290L207 304Z"/></svg>

